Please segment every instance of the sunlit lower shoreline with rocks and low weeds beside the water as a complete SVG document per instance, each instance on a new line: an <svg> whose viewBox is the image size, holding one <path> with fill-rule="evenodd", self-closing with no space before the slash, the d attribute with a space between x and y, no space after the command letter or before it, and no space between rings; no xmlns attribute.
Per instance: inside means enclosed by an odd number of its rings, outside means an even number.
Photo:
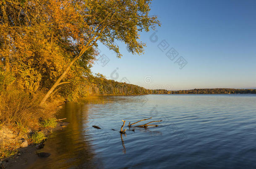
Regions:
<svg viewBox="0 0 256 169"><path fill-rule="evenodd" d="M9 168L10 164L17 163L18 160L25 161L22 164L26 164L26 161L29 161L29 158L27 158L29 154L37 156L35 152L43 148L44 141L49 138L52 132L63 129L68 125L68 122L56 119L57 111L63 108L63 104L65 104L65 101L55 100L53 105L48 104L43 107L42 109L51 114L51 118L44 120L40 118L37 126L19 126L18 123L0 125L0 169ZM39 136L39 133L41 138L32 138L33 136ZM39 140L40 142L38 142ZM24 147L21 146L22 144L24 144Z"/></svg>

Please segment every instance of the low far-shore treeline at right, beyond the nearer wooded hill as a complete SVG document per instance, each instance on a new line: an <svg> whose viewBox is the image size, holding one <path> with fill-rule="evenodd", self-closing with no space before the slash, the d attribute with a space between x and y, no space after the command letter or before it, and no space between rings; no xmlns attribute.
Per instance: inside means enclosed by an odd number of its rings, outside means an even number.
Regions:
<svg viewBox="0 0 256 169"><path fill-rule="evenodd" d="M168 91L172 94L256 94L256 89L236 89L236 88L195 88L192 90Z"/></svg>

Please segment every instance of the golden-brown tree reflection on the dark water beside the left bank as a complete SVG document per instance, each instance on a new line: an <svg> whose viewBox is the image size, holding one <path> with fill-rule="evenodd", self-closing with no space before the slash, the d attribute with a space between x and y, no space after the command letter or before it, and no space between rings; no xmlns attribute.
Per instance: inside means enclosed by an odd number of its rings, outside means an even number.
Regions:
<svg viewBox="0 0 256 169"><path fill-rule="evenodd" d="M39 158L30 169L69 169L72 167L102 168L102 162L95 158L91 146L91 136L84 127L88 122L87 106L67 103L59 118L67 118L70 124L63 130L55 131L47 139L43 149L38 152L49 152L48 158Z"/></svg>

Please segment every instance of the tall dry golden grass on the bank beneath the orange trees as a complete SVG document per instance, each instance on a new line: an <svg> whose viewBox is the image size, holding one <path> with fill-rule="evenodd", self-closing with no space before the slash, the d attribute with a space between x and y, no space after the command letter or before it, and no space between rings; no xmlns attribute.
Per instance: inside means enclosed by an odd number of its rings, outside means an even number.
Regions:
<svg viewBox="0 0 256 169"><path fill-rule="evenodd" d="M50 119L59 101L50 102L45 108L39 106L42 93L28 93L9 87L0 94L0 122L16 124L19 128L36 129L39 119Z"/></svg>

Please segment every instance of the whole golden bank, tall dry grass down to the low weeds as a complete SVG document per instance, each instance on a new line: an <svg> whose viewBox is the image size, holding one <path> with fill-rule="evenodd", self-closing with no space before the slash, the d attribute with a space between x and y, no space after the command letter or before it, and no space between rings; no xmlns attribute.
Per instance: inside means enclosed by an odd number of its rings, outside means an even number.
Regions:
<svg viewBox="0 0 256 169"><path fill-rule="evenodd" d="M37 144L45 139L44 133L39 130L56 126L54 115L61 103L60 97L52 98L42 108L39 106L42 96L43 93L29 93L14 85L1 91L0 160L17 152L21 138ZM10 131L6 126L9 126ZM28 137L29 131L33 131L31 137Z"/></svg>

